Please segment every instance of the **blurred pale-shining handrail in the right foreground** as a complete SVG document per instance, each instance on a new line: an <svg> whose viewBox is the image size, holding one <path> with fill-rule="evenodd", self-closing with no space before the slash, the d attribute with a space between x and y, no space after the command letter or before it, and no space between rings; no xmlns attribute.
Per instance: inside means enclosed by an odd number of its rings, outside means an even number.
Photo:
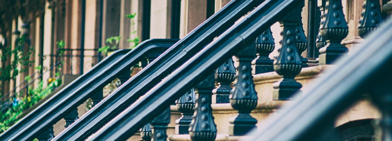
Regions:
<svg viewBox="0 0 392 141"><path fill-rule="evenodd" d="M390 95L391 33L392 20L389 20L365 39L366 43L358 46L357 52L342 58L335 67L314 80L303 97L283 106L278 113L260 123L259 131L250 133L253 137L246 141L315 141L364 92L370 92L373 98L386 93ZM379 88L375 86L388 90L372 93L372 89ZM385 98L390 102L390 97ZM387 106L390 109L390 105Z"/></svg>

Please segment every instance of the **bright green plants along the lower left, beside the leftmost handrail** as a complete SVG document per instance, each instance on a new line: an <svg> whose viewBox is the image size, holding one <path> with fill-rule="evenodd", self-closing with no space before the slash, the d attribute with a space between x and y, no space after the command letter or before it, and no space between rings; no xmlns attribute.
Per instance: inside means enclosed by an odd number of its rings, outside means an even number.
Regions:
<svg viewBox="0 0 392 141"><path fill-rule="evenodd" d="M11 106L7 112L0 115L0 134L16 123L20 119L19 116L22 115L28 107L32 107L39 100L52 93L56 87L61 85L61 82L62 81L58 79L50 79L50 82L46 87L43 87L43 83L39 82L38 86L33 89L29 88L29 96L27 96L27 98L24 92L18 93L18 104L16 106Z"/></svg>

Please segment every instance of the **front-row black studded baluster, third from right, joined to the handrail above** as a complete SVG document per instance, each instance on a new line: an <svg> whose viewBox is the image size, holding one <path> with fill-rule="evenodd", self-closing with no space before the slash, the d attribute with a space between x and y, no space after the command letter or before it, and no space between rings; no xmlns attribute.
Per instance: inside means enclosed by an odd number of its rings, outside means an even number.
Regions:
<svg viewBox="0 0 392 141"><path fill-rule="evenodd" d="M282 41L280 41L281 48L278 50L279 55L274 61L274 70L281 75L281 79L273 84L273 100L290 100L290 97L302 87L294 79L301 72L302 68L302 62L296 48L297 40L295 36L300 15L301 11L299 8L296 8L279 21L280 26L283 27L281 32Z"/></svg>

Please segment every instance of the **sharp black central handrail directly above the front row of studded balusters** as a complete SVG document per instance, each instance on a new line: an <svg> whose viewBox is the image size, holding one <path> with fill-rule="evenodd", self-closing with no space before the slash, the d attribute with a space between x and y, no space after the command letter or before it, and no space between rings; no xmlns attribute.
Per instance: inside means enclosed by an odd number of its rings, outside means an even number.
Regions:
<svg viewBox="0 0 392 141"><path fill-rule="evenodd" d="M205 46L197 55L165 77L142 98L111 120L89 141L126 140L140 127L160 114L160 111L213 73L227 58L240 51L243 46L254 43L261 32L298 6L301 0L266 0L242 21L225 31L216 40ZM162 57L162 56L161 56Z"/></svg>

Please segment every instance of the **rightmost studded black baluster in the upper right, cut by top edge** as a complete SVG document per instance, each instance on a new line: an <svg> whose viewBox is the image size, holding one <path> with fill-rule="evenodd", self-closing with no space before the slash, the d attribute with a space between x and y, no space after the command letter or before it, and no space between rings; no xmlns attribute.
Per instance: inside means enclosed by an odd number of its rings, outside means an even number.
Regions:
<svg viewBox="0 0 392 141"><path fill-rule="evenodd" d="M383 21L379 0L363 0L363 11L359 20L358 34L362 38L377 29Z"/></svg>

